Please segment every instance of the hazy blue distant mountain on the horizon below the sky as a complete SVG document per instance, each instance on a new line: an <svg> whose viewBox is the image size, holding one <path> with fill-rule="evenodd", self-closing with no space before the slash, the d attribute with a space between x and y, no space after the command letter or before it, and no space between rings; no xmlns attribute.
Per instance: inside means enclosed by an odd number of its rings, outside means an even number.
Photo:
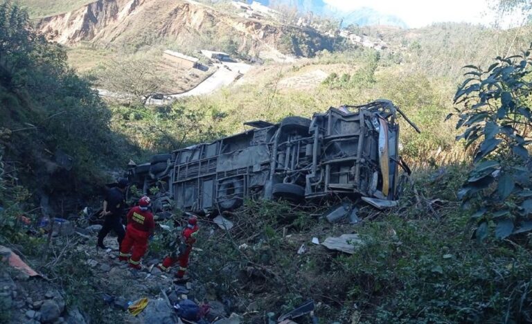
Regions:
<svg viewBox="0 0 532 324"><path fill-rule="evenodd" d="M256 0L264 6L289 6L297 8L300 12L313 12L320 16L335 17L342 19L342 26L357 24L358 26L390 25L407 28L405 21L397 16L384 15L373 8L361 7L351 12L345 12L329 6L323 0ZM248 0L248 3L253 0Z"/></svg>

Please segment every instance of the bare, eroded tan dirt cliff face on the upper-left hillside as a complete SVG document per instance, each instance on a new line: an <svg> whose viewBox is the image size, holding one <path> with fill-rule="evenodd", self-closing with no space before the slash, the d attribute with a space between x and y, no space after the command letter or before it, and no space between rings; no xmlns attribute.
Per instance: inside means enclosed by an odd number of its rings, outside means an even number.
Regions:
<svg viewBox="0 0 532 324"><path fill-rule="evenodd" d="M195 48L200 40L215 44L231 37L241 52L254 54L275 50L279 39L295 27L226 15L192 0L98 0L41 19L37 28L49 39L68 45L94 42L140 48L170 42Z"/></svg>

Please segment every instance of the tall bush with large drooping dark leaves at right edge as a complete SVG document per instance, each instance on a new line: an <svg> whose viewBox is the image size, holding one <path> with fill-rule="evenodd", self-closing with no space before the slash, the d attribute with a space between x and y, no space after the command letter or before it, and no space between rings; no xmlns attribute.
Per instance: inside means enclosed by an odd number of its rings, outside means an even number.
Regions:
<svg viewBox="0 0 532 324"><path fill-rule="evenodd" d="M477 145L474 168L459 198L474 212L479 240L487 237L492 224L501 239L532 229L531 64L528 50L497 57L486 71L465 66L470 71L454 97L460 105L456 128L465 128L457 138L463 138L466 147Z"/></svg>

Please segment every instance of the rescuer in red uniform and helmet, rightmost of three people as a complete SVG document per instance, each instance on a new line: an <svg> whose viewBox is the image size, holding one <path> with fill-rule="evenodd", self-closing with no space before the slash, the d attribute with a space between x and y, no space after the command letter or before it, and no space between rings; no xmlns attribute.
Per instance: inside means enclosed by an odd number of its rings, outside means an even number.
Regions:
<svg viewBox="0 0 532 324"><path fill-rule="evenodd" d="M196 242L198 230L197 217L193 215L188 219L188 224L181 232L179 254L175 255L175 253L172 253L172 255L168 255L164 258L163 263L158 265L159 269L168 271L168 268L179 262L179 270L175 274L175 277L177 280L187 280L188 278L184 278L184 275L188 267L190 251L192 251L192 246Z"/></svg>

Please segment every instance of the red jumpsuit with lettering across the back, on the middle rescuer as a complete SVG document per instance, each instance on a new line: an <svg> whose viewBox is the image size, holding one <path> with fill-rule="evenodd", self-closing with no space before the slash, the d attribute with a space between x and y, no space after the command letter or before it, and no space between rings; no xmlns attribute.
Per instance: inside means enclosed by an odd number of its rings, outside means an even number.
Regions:
<svg viewBox="0 0 532 324"><path fill-rule="evenodd" d="M141 258L148 250L148 239L154 228L155 222L150 210L141 210L139 206L131 208L127 213L127 228L119 260L126 261L129 258L130 267L141 269Z"/></svg>

